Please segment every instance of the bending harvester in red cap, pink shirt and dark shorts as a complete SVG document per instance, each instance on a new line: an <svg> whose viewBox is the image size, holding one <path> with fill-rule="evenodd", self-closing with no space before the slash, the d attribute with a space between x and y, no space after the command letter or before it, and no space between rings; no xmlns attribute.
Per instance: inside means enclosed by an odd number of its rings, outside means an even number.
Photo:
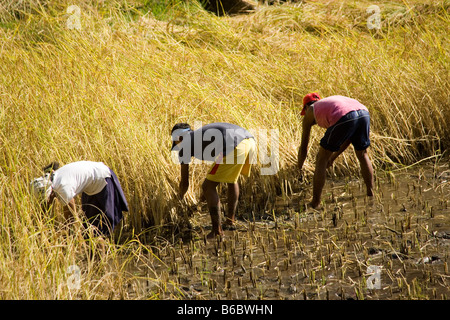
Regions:
<svg viewBox="0 0 450 320"><path fill-rule="evenodd" d="M298 168L302 170L308 153L311 127L315 124L327 129L320 140L313 177L313 199L310 205L317 208L320 204L326 169L347 149L350 143L355 149L361 167L361 174L367 188L367 195L373 196L373 168L367 154L370 146L370 115L359 101L344 97L331 96L321 99L316 93L303 98L303 132L298 151Z"/></svg>

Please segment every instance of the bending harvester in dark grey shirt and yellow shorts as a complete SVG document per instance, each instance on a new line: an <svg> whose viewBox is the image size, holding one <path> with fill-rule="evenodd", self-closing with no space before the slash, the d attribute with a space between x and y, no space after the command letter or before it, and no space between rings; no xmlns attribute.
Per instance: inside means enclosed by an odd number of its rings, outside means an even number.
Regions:
<svg viewBox="0 0 450 320"><path fill-rule="evenodd" d="M172 151L178 152L178 163L181 165L180 199L184 198L189 188L191 157L214 162L202 184L212 224L212 231L207 238L222 236L223 228L234 228L239 198L238 178L241 174L250 176L256 154L254 137L244 128L224 122L207 124L195 131L187 123L177 123L171 135ZM220 183L228 185L228 212L223 228L217 193Z"/></svg>

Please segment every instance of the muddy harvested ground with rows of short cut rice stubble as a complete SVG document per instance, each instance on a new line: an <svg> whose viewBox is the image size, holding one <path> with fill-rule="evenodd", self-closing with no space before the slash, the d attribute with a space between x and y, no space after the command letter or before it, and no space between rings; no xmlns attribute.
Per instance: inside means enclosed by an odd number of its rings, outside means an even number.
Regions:
<svg viewBox="0 0 450 320"><path fill-rule="evenodd" d="M206 241L207 208L193 238L153 246L130 295L158 299L447 299L450 295L448 163L328 178L322 210L310 185L291 187L265 212L239 214L235 231Z"/></svg>

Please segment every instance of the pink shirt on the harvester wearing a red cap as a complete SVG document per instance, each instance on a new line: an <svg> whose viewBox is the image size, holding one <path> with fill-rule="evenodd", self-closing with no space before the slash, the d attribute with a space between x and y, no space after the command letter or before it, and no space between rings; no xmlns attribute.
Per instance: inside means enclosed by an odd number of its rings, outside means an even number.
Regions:
<svg viewBox="0 0 450 320"><path fill-rule="evenodd" d="M367 110L358 100L344 96L326 97L315 102L313 106L316 122L322 128L331 127L351 111Z"/></svg>

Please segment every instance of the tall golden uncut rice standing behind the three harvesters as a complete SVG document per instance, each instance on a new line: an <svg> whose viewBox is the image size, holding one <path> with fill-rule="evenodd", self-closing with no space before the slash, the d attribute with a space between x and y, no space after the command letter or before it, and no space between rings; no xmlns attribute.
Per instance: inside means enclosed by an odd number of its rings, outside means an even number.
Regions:
<svg viewBox="0 0 450 320"><path fill-rule="evenodd" d="M20 14L5 3L0 11L1 298L73 298L58 281L77 253L89 264L89 250L97 250L61 236L57 217L38 210L28 183L50 161L110 166L130 204L121 230L139 234L176 217L179 168L169 151L176 122L279 129L281 170L273 177L255 170L247 183L259 190L295 176L299 108L310 91L369 108L376 169L450 145L448 1L379 1L380 30L367 29L365 1L260 6L221 18L194 2L174 1L163 15L145 1L82 1L81 30L66 25L72 1L21 3ZM312 140L322 133L314 129ZM310 168L316 150L317 143ZM357 174L354 161L346 152L334 172ZM191 168L190 203L204 170ZM127 263L120 249L107 250L111 260L83 274L90 287L78 297L107 298L108 286L125 277L110 270Z"/></svg>

